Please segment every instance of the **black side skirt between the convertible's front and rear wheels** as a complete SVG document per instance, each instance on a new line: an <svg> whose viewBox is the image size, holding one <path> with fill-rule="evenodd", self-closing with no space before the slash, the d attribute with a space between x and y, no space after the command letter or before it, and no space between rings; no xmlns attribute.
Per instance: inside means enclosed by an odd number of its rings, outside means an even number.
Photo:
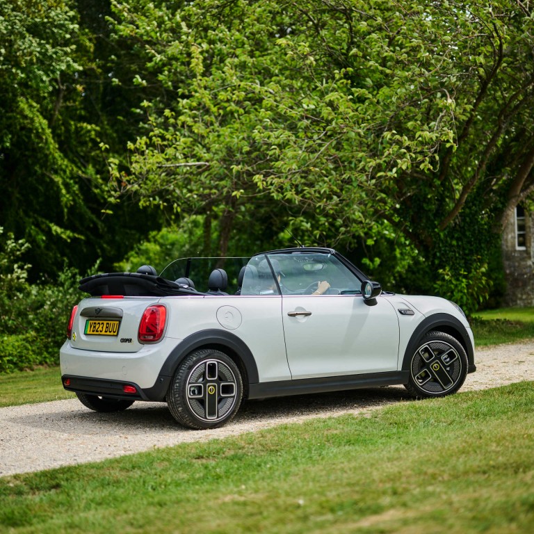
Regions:
<svg viewBox="0 0 534 534"><path fill-rule="evenodd" d="M328 391L343 391L344 389L402 385L407 384L407 382L408 371L331 376L327 378L306 378L303 380L282 380L280 382L259 382L249 385L248 398L327 393Z"/></svg>

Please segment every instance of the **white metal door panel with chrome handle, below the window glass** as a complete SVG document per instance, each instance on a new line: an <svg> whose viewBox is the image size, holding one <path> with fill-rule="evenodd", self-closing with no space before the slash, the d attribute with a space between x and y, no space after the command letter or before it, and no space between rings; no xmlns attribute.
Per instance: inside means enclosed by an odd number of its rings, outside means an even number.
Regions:
<svg viewBox="0 0 534 534"><path fill-rule="evenodd" d="M398 318L385 297L283 296L282 317L293 379L397 370Z"/></svg>

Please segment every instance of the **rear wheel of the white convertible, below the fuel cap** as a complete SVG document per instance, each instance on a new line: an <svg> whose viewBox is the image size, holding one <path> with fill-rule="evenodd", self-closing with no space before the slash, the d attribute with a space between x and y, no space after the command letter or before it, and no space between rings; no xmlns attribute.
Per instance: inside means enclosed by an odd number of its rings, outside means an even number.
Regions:
<svg viewBox="0 0 534 534"><path fill-rule="evenodd" d="M236 414L243 381L234 360L220 350L196 350L178 367L167 394L172 416L203 430L223 426Z"/></svg>

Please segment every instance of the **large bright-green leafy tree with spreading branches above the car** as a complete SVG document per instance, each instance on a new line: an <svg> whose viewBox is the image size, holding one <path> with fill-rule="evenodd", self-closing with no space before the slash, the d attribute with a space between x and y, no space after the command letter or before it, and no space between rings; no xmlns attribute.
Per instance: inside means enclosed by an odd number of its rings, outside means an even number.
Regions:
<svg viewBox="0 0 534 534"><path fill-rule="evenodd" d="M403 234L472 309L533 191L532 24L519 1L114 4L165 88L122 191L230 230L354 247ZM141 46L142 45L142 46ZM373 263L373 262L372 262ZM441 273L441 274L440 274ZM469 278L476 284L465 284Z"/></svg>

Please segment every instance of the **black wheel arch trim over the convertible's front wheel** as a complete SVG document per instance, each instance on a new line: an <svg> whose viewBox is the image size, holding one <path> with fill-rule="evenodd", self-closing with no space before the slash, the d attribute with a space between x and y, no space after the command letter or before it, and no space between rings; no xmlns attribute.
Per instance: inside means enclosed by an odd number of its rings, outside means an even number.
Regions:
<svg viewBox="0 0 534 534"><path fill-rule="evenodd" d="M438 332L444 332L450 334L457 339L467 354L467 372L473 373L476 371L475 355L471 339L467 333L467 328L458 321L457 318L448 314L434 314L425 318L421 324L414 330L410 341L406 346L406 350L403 357L403 371L410 371L410 361L415 350L418 348L419 341L427 333L437 330Z"/></svg>

